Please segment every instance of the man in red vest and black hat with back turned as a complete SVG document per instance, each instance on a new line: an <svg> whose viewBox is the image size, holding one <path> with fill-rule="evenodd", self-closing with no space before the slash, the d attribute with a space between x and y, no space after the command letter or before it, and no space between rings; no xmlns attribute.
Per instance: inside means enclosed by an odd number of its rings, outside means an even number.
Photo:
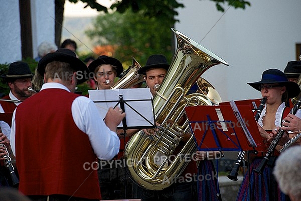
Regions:
<svg viewBox="0 0 301 201"><path fill-rule="evenodd" d="M32 200L99 200L97 158L118 153L116 129L125 113L110 108L103 121L91 99L74 93L89 73L69 49L45 55L38 72L45 84L12 121L19 190Z"/></svg>

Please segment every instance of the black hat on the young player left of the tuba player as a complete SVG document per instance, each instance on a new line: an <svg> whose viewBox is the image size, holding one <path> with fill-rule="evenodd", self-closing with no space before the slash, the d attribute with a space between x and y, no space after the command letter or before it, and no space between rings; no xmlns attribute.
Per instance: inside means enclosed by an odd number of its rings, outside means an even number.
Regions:
<svg viewBox="0 0 301 201"><path fill-rule="evenodd" d="M96 67L102 64L111 64L113 66L116 66L116 76L120 75L123 72L123 66L121 64L121 62L118 59L115 59L113 57L108 57L106 55L101 55L99 56L97 59L95 59L94 61L92 61L88 68L90 70L90 72L94 72Z"/></svg>

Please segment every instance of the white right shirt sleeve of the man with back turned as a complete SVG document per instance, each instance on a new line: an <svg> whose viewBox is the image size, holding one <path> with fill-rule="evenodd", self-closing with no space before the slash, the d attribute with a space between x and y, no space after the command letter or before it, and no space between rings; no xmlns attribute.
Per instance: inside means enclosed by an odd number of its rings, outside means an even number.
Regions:
<svg viewBox="0 0 301 201"><path fill-rule="evenodd" d="M76 126L89 136L94 153L99 159L111 160L118 152L120 140L104 123L91 99L79 96L71 107Z"/></svg>

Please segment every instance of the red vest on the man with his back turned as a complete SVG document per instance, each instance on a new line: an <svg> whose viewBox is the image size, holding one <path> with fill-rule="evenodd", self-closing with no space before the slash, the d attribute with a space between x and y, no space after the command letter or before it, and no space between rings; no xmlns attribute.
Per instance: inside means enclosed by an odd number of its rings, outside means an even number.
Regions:
<svg viewBox="0 0 301 201"><path fill-rule="evenodd" d="M63 89L45 89L18 106L16 161L19 190L25 195L101 198L96 155L71 114L78 96Z"/></svg>

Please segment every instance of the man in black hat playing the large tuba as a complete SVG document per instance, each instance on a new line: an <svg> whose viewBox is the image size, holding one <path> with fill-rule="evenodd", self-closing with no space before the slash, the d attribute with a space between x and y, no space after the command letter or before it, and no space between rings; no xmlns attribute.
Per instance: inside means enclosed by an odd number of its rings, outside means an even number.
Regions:
<svg viewBox="0 0 301 201"><path fill-rule="evenodd" d="M161 83L170 67L164 55L151 55L148 57L145 66L138 70L139 74L144 75L144 79L150 92L155 96L156 91L160 88ZM143 129L148 135L153 135L156 130ZM160 153L156 156L161 156ZM185 168L178 180L171 186L163 190L147 190L143 189L136 183L133 183L133 198L140 198L141 200L197 200L197 183L196 181L183 181L186 175L193 175L197 173L197 165L192 160ZM184 179L185 180L185 179ZM179 182L180 181L180 182Z"/></svg>

